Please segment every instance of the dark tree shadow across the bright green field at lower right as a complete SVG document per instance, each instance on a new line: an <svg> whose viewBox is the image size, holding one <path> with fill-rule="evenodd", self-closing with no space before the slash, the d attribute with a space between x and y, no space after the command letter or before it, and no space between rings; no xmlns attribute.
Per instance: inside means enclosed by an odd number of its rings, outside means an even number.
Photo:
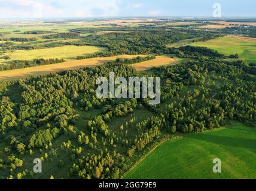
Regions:
<svg viewBox="0 0 256 191"><path fill-rule="evenodd" d="M242 149L249 149L256 152L256 140L250 138L234 138L234 137L222 137L218 135L210 134L197 134L191 135L187 138L206 141L214 144L222 144L230 147L237 147Z"/></svg>

